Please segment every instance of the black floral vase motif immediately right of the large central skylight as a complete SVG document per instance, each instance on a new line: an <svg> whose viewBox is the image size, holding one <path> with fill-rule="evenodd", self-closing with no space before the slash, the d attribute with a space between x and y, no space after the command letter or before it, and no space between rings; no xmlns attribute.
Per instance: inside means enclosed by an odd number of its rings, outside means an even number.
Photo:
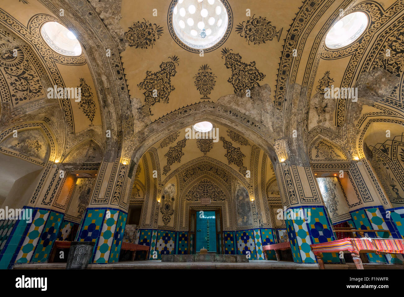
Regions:
<svg viewBox="0 0 404 297"><path fill-rule="evenodd" d="M236 26L236 32L244 37L248 44L250 42L262 44L274 38L279 41L282 29L276 31L276 27L271 25L271 21L265 17L255 17L255 15Z"/></svg>

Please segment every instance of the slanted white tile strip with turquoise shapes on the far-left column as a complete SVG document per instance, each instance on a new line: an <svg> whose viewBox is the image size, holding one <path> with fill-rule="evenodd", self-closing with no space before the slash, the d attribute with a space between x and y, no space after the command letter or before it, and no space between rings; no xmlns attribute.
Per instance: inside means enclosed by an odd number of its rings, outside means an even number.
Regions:
<svg viewBox="0 0 404 297"><path fill-rule="evenodd" d="M29 263L50 213L50 211L43 209L36 209L34 212L34 220L32 221L28 233L25 236L21 249L19 250L17 258L15 259L15 263Z"/></svg>

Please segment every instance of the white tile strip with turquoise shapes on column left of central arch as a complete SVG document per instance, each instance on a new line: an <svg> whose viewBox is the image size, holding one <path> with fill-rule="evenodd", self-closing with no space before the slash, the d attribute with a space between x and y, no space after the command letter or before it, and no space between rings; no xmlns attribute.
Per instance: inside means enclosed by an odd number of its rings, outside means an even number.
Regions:
<svg viewBox="0 0 404 297"><path fill-rule="evenodd" d="M105 215L100 238L95 252L94 263L107 263L111 252L112 241L114 240L116 223L118 222L119 211L108 209L111 216ZM107 211L105 211L107 213Z"/></svg>

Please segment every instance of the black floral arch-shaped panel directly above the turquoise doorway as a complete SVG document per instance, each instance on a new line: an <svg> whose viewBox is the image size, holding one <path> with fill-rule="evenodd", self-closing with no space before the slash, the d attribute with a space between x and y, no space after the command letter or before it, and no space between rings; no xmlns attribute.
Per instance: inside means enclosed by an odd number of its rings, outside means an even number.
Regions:
<svg viewBox="0 0 404 297"><path fill-rule="evenodd" d="M203 179L185 194L186 201L199 201L201 198L210 198L212 201L225 201L223 190L208 179Z"/></svg>

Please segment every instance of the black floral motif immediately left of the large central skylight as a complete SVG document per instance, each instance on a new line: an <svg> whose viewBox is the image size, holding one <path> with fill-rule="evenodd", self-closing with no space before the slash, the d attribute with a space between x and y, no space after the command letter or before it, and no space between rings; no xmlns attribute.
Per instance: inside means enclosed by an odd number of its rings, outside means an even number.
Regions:
<svg viewBox="0 0 404 297"><path fill-rule="evenodd" d="M156 24L151 24L149 21L143 19L144 22L137 21L133 23L128 31L125 32L125 38L129 42L129 46L135 46L135 48L148 48L156 43L156 39L159 39L163 34L163 27Z"/></svg>

